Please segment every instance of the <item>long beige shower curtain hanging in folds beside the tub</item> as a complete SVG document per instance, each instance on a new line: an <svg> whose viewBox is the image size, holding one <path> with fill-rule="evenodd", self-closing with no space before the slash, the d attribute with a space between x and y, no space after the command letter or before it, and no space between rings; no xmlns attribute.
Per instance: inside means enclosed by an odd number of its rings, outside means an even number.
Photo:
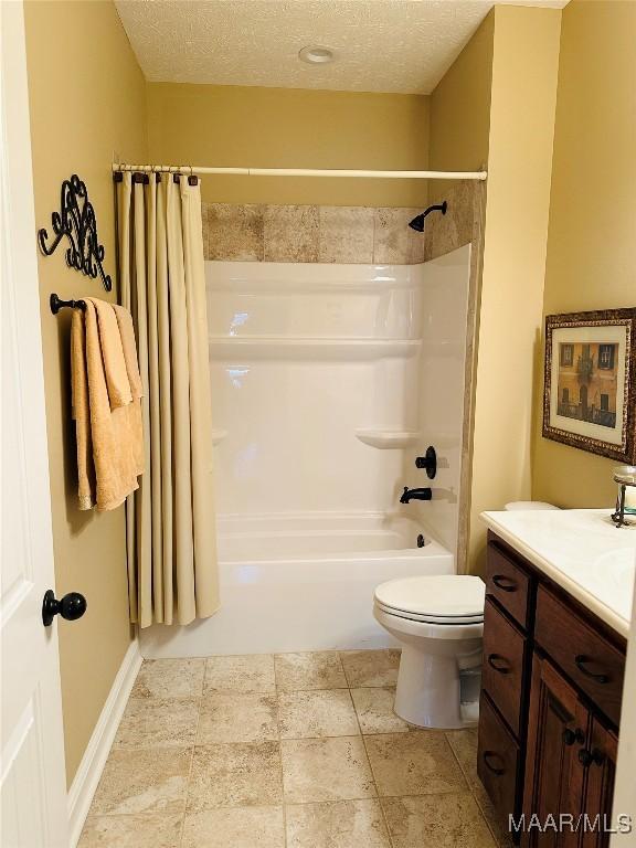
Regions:
<svg viewBox="0 0 636 848"><path fill-rule="evenodd" d="M126 505L130 619L189 624L219 606L199 181L124 173L117 221L144 382L146 471Z"/></svg>

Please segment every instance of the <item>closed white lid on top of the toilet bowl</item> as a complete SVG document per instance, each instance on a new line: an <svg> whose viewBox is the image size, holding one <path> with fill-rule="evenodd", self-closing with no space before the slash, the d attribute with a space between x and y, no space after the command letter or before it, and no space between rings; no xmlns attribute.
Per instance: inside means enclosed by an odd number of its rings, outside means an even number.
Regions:
<svg viewBox="0 0 636 848"><path fill-rule="evenodd" d="M484 616L486 586L469 574L403 577L382 583L375 601L384 610L425 616L427 619L479 619Z"/></svg>

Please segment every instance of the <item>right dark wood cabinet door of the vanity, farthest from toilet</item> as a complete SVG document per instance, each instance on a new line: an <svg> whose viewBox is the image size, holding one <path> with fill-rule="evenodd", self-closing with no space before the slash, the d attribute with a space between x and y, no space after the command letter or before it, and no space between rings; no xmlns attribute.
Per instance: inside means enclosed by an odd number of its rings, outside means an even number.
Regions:
<svg viewBox="0 0 636 848"><path fill-rule="evenodd" d="M612 824L612 796L616 771L618 740L597 719L592 721L590 759L583 757L587 768L587 786L583 812L586 814L581 848L605 848L610 844L607 828ZM629 813L630 810L618 810Z"/></svg>

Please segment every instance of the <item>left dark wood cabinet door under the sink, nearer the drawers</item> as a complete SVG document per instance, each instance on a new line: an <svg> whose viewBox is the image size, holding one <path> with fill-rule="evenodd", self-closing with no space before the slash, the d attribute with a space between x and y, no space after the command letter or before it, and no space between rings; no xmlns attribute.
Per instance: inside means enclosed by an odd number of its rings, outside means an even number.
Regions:
<svg viewBox="0 0 636 848"><path fill-rule="evenodd" d="M575 690L547 659L534 655L523 814L526 828L530 823L538 826L522 833L524 847L579 845L580 834L559 823L563 816L576 823L583 807L585 770L579 752L585 749L589 724L590 714Z"/></svg>

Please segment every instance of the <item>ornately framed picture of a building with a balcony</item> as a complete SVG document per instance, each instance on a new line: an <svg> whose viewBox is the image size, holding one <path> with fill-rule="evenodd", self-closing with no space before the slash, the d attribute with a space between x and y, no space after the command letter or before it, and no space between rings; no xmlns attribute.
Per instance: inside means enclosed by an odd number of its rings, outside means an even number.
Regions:
<svg viewBox="0 0 636 848"><path fill-rule="evenodd" d="M636 464L636 308L545 318L543 436Z"/></svg>

